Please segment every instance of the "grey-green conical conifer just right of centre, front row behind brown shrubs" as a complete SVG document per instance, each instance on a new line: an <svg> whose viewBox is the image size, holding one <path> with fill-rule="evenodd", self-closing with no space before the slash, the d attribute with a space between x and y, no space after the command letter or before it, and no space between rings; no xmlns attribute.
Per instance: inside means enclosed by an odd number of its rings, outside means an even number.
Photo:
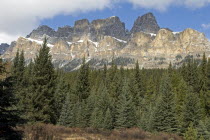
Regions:
<svg viewBox="0 0 210 140"><path fill-rule="evenodd" d="M135 107L126 80L124 81L123 90L116 107L116 127L130 128L135 126Z"/></svg>

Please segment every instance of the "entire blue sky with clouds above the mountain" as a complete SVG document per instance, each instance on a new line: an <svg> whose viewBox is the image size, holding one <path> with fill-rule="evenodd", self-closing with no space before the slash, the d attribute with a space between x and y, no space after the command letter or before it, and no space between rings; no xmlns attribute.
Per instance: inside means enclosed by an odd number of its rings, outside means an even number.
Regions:
<svg viewBox="0 0 210 140"><path fill-rule="evenodd" d="M79 19L118 16L131 29L138 16L152 12L162 28L193 28L210 39L210 0L1 0L0 43L26 36L40 25L55 30Z"/></svg>

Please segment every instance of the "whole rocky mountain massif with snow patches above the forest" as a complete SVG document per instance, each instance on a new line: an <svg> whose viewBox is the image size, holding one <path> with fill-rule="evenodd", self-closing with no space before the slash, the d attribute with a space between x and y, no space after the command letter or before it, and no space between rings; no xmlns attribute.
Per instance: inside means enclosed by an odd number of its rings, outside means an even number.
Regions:
<svg viewBox="0 0 210 140"><path fill-rule="evenodd" d="M210 54L210 42L203 33L160 28L154 15L147 13L136 19L131 31L116 16L92 22L82 19L73 27L64 26L56 31L40 26L13 42L2 57L11 60L17 50L24 50L26 60L31 60L44 37L48 38L54 65L68 71L78 69L84 56L94 68L109 65L112 60L127 68L134 67L136 60L144 68L166 68L170 62L179 66L188 57L199 60L204 52Z"/></svg>

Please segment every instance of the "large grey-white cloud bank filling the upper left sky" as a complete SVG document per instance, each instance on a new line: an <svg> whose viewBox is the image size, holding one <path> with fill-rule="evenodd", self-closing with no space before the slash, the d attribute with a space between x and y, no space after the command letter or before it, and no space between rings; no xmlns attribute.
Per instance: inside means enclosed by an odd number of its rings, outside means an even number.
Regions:
<svg viewBox="0 0 210 140"><path fill-rule="evenodd" d="M113 3L115 0L1 0L0 41L8 42L19 34L26 35L42 19L102 10Z"/></svg>

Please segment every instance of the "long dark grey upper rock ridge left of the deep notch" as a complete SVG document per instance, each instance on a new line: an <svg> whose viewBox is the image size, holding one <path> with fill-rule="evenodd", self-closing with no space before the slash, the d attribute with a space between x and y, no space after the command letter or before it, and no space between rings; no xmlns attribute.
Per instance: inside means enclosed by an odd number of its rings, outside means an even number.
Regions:
<svg viewBox="0 0 210 140"><path fill-rule="evenodd" d="M74 27L59 27L57 31L44 25L33 30L27 38L42 39L44 35L54 38L54 40L55 38L67 38L68 41L78 40L86 35L89 35L94 41L99 41L103 39L104 36L126 39L125 24L120 21L119 17L98 19L91 23L87 19L82 19L76 21Z"/></svg>

